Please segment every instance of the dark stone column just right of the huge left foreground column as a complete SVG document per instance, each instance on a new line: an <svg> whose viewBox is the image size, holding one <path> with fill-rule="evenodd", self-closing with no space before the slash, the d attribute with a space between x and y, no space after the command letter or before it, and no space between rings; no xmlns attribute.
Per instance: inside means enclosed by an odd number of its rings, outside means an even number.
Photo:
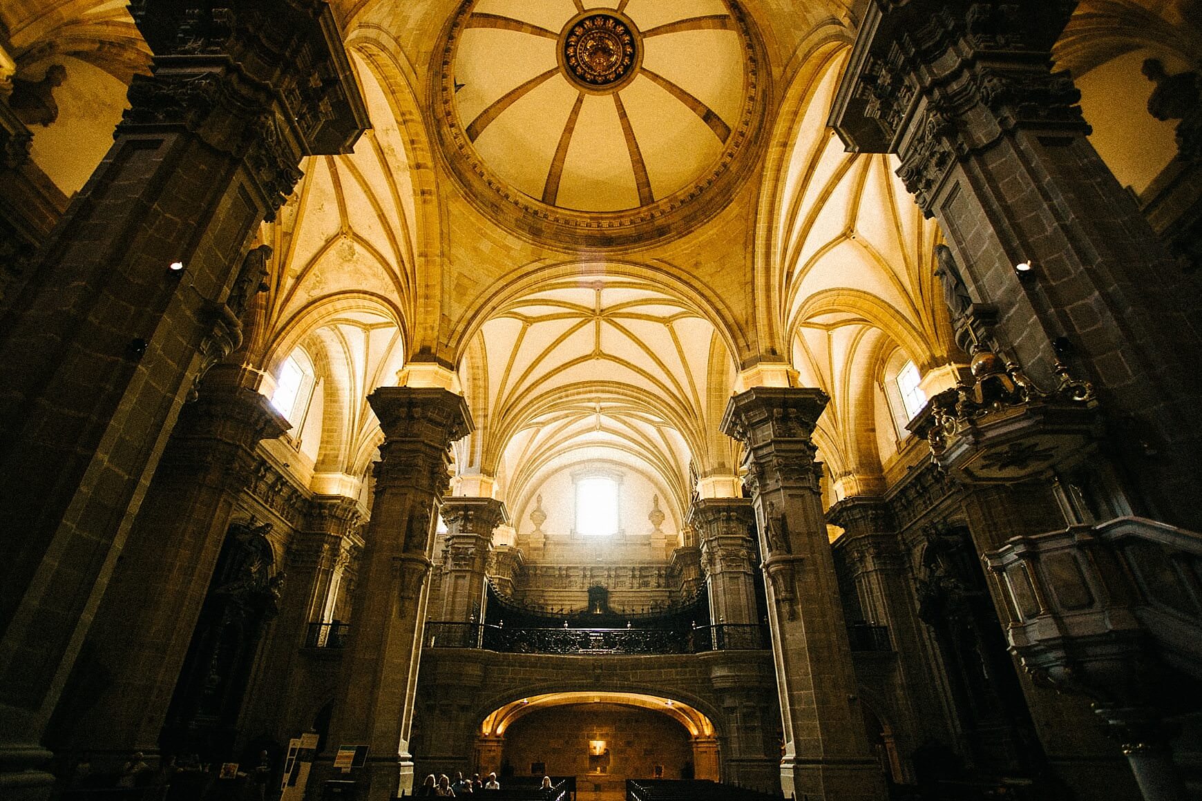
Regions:
<svg viewBox="0 0 1202 801"><path fill-rule="evenodd" d="M133 751L157 752L255 447L286 428L263 395L237 383L206 381L184 407L64 697L56 719L70 735L61 745L108 753L113 764ZM109 680L99 698L88 689L96 676Z"/></svg>

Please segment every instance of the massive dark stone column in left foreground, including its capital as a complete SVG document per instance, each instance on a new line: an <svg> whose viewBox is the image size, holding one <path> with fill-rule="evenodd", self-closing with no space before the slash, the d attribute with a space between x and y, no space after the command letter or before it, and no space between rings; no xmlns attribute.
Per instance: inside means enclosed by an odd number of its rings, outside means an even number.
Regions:
<svg viewBox="0 0 1202 801"><path fill-rule="evenodd" d="M10 799L50 781L26 771L179 410L236 345L227 305L250 238L302 156L346 153L368 125L325 4L224 5L135 7L153 74L133 78L112 149L0 323Z"/></svg>

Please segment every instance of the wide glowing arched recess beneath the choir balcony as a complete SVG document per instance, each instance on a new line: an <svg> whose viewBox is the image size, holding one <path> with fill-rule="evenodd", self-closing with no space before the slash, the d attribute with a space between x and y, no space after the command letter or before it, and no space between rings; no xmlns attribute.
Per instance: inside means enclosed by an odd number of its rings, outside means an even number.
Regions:
<svg viewBox="0 0 1202 801"><path fill-rule="evenodd" d="M627 778L720 778L710 719L682 701L638 693L512 701L481 723L475 755L481 773L510 779L573 776L581 801L624 799Z"/></svg>

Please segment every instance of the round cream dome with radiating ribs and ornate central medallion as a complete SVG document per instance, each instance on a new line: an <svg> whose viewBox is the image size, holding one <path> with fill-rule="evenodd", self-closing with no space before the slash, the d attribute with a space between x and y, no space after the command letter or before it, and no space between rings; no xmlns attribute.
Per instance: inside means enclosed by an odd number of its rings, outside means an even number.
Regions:
<svg viewBox="0 0 1202 801"><path fill-rule="evenodd" d="M452 162L543 226L676 210L726 172L756 104L726 0L476 0L447 47Z"/></svg>

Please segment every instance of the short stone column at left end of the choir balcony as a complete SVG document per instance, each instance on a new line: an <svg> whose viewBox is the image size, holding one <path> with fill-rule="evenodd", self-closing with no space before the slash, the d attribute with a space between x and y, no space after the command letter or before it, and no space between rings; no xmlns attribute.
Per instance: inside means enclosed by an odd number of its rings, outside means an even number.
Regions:
<svg viewBox="0 0 1202 801"><path fill-rule="evenodd" d="M442 608L438 620L466 623L483 618L484 568L493 528L510 521L505 504L493 498L452 497L442 503L447 525L442 564Z"/></svg>

